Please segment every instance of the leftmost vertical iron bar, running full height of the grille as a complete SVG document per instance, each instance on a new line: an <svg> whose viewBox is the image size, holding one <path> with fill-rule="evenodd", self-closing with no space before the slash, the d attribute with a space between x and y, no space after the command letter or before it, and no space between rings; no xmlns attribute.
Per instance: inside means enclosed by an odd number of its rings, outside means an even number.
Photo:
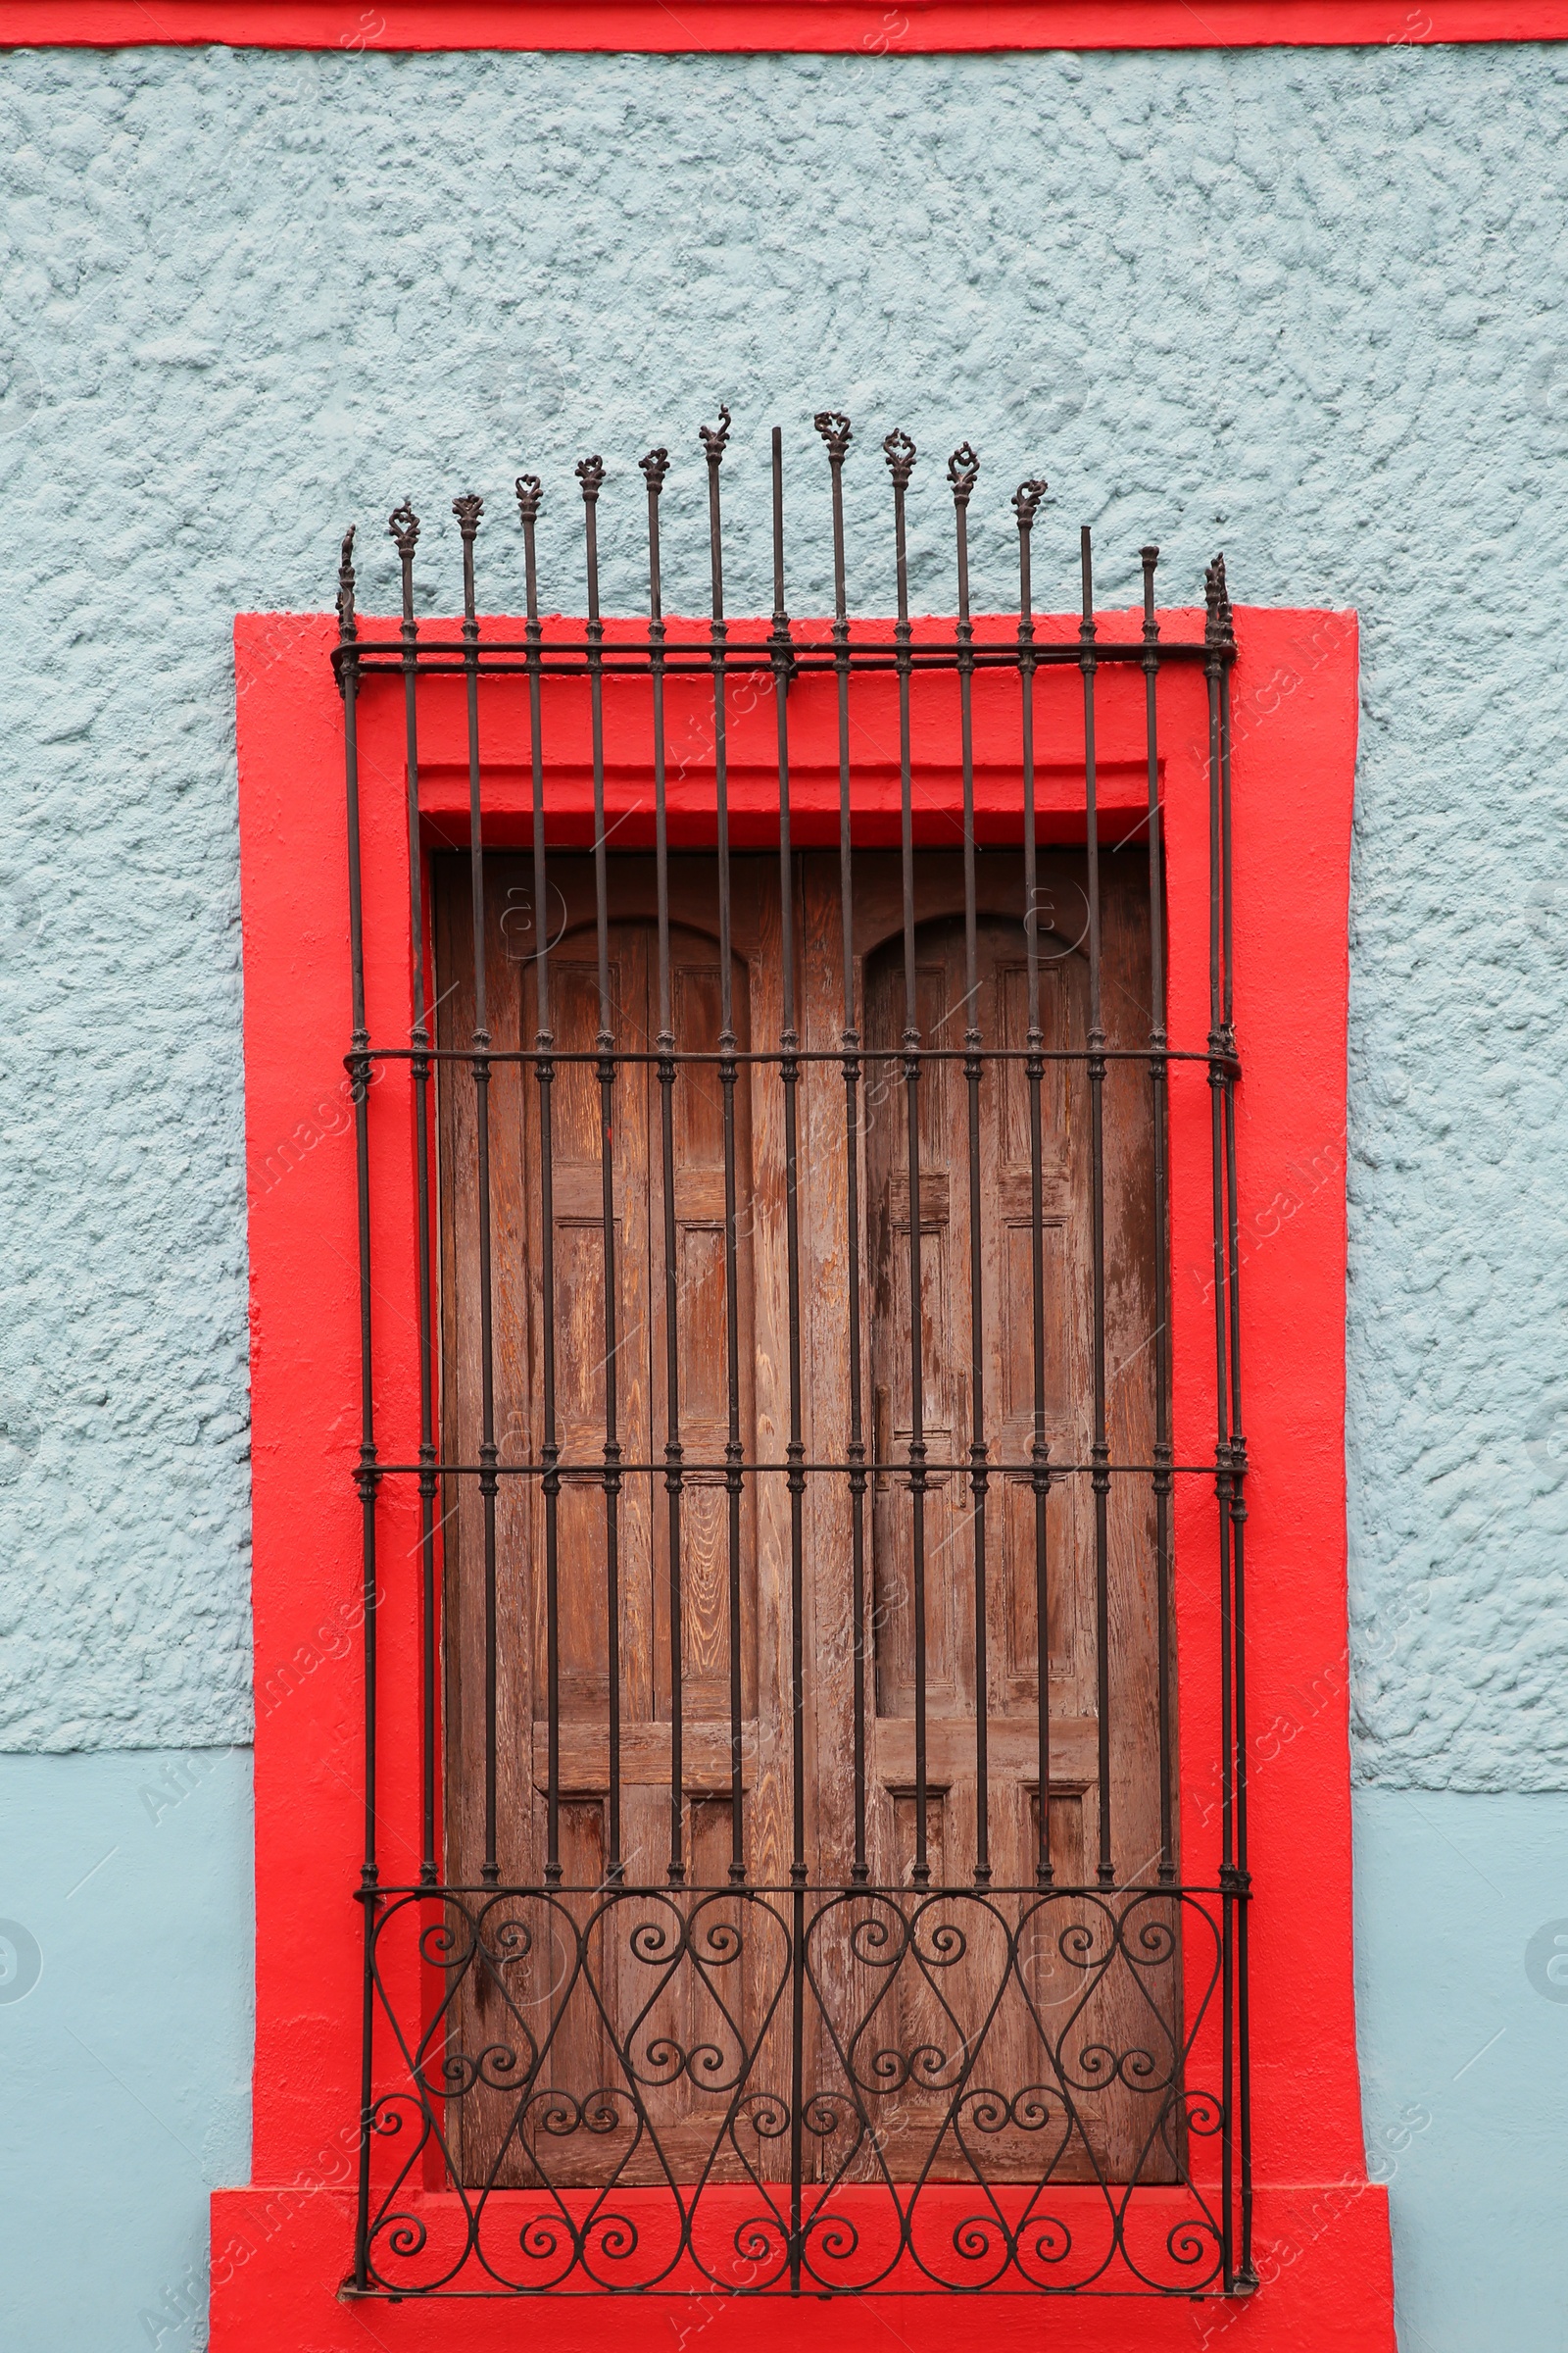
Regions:
<svg viewBox="0 0 1568 2353"><path fill-rule="evenodd" d="M371 1374L371 1264L369 1264L369 1031L364 1026L364 901L360 889L360 656L355 621L355 534L343 532L339 565L339 645L343 647L343 795L348 814L348 946L353 965L353 1038L348 1080L355 1104L355 1202L360 1228L360 1489L362 1609L364 1609L364 1984L360 2012L360 2165L355 2198L355 2287L369 2287L369 2151L374 2127L374 2021L376 2021L376 1384Z"/></svg>

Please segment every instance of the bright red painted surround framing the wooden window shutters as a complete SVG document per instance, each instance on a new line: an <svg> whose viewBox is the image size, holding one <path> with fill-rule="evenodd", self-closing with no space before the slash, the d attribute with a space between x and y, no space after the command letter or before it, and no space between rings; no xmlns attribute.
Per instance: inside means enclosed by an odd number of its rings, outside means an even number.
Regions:
<svg viewBox="0 0 1568 2353"><path fill-rule="evenodd" d="M369 624L362 624L369 628ZM496 624L517 631L517 624ZM1001 626L1001 624L997 624ZM1201 614L1173 614L1182 633ZM1041 635L1070 621L1041 621ZM1135 635L1138 616L1105 616ZM1241 2306L1053 2301L1060 2353L1206 2346L1229 2329L1253 2353L1392 2353L1385 2191L1368 2184L1352 1995L1347 1605L1345 1605L1345 1009L1349 812L1356 753L1356 619L1237 609L1234 972L1248 1478L1248 1692L1253 1875L1253 2101L1258 2266ZM244 911L244 1087L249 1160L254 1640L256 1640L256 2071L254 2181L212 2202L216 2353L498 2353L531 2346L632 2353L682 2306L639 2299L369 2304L339 2299L353 2252L360 2068L362 1645L357 1445L357 1245L348 1042L343 713L327 616L242 614L235 624L240 849ZM806 685L806 682L802 682ZM1103 680L1103 805L1135 826L1119 755L1140 748L1140 675ZM444 765L463 760L461 685L423 689L423 824L433 847L463 838L444 807ZM637 689L632 689L637 692ZM832 692L827 687L827 692ZM1060 694L1060 704L1051 696ZM1074 673L1041 678L1041 744L1070 753ZM1208 1021L1208 779L1197 671L1161 680L1168 849L1171 1035ZM766 722L766 713L762 713ZM1016 729L1016 711L1011 713ZM1077 722L1081 729L1081 718ZM978 713L978 762L1004 762L1006 713ZM813 791L811 715L799 779ZM628 744L637 734L632 727ZM743 734L743 727L741 727ZM1126 736L1126 744L1121 744ZM642 739L646 741L646 736ZM832 753L827 753L832 758ZM421 760L421 769L423 769ZM614 734L611 734L614 762ZM741 781L745 746L733 744ZM1065 760L1056 793L1070 833ZM360 701L367 991L374 1035L407 1031L407 772L395 680ZM1081 784L1079 784L1081 793ZM487 769L487 824L505 840L512 784ZM936 800L943 798L938 784ZM1046 809L1053 795L1041 793ZM1079 802L1081 805L1081 802ZM400 1066L374 1096L381 1153L374 1264L386 1445L416 1417L411 1299L414 1144ZM402 1094L400 1094L402 1089ZM1208 1104L1201 1068L1173 1080L1173 1372L1178 1461L1213 1449ZM402 1153L407 1186L386 1184ZM411 1457L400 1457L411 1459ZM397 1482L393 1482L395 1487ZM409 1739L383 1769L383 1842L416 1821L414 1487L381 1504L381 1708ZM407 1525L404 1525L407 1522ZM1178 1515L1182 1744L1218 1753L1213 1499L1185 1482ZM402 1574L400 1574L402 1572ZM1215 1847L1215 1793L1185 1774L1185 1868ZM440 2195L440 2193L433 2193ZM943 2299L879 2299L917 2353L952 2332ZM715 2348L849 2348L867 2337L853 2301L703 2299ZM978 2318L978 2315L976 2315ZM1032 2299L987 2304L1001 2344L1037 2344ZM736 2339L738 2341L738 2339Z"/></svg>

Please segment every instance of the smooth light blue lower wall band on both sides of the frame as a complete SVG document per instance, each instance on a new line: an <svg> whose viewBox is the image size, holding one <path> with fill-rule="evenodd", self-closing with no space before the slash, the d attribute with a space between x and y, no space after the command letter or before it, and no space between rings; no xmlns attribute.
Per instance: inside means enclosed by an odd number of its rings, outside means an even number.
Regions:
<svg viewBox="0 0 1568 2353"><path fill-rule="evenodd" d="M1354 1821L1401 2353L1568 2353L1568 1795ZM0 1758L0 1922L7 2353L195 2353L207 2191L249 2172L249 1753Z"/></svg>

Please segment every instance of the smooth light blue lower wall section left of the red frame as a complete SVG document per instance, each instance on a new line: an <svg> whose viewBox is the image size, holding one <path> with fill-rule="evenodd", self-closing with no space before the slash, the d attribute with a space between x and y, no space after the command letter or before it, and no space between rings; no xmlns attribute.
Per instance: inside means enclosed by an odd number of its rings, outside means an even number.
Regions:
<svg viewBox="0 0 1568 2353"><path fill-rule="evenodd" d="M7 2353L207 2344L207 2193L249 2174L252 1972L249 1751L0 1755Z"/></svg>

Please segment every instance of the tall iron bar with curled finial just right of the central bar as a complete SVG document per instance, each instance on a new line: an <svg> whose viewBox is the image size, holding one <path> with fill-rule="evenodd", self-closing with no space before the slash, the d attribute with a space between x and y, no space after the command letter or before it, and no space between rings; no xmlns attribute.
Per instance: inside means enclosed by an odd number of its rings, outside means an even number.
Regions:
<svg viewBox="0 0 1568 2353"><path fill-rule="evenodd" d="M844 944L844 1240L849 1261L849 1657L853 1673L856 1852L851 1885L865 1887L865 1424L860 1419L860 1031L856 1026L856 904L853 826L849 805L849 602L844 581L844 456L849 416L820 409L813 419L827 445L832 480L832 654L839 689L839 932Z"/></svg>

